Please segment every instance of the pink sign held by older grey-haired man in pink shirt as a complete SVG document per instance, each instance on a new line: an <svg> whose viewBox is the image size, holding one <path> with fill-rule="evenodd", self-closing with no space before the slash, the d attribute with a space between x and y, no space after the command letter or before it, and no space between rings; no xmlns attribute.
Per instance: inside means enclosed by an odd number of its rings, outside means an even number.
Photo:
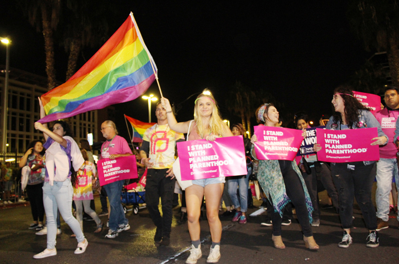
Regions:
<svg viewBox="0 0 399 264"><path fill-rule="evenodd" d="M97 162L98 179L100 185L138 178L136 156L125 156L116 159L104 158Z"/></svg>

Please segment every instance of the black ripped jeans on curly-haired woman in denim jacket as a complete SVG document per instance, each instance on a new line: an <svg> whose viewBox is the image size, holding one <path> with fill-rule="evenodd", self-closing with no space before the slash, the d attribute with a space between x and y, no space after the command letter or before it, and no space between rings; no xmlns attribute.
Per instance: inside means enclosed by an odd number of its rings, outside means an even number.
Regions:
<svg viewBox="0 0 399 264"><path fill-rule="evenodd" d="M353 169L348 165L354 166ZM366 227L376 230L377 216L371 200L374 178L377 174L377 163L365 165L363 162L331 164L335 186L340 200L340 218L344 229L352 227L354 197L362 211Z"/></svg>

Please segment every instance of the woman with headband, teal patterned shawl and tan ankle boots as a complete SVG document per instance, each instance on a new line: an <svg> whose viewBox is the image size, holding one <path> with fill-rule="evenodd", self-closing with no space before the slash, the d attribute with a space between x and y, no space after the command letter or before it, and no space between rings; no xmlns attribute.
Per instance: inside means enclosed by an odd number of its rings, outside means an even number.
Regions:
<svg viewBox="0 0 399 264"><path fill-rule="evenodd" d="M278 111L273 104L264 104L256 110L258 123L262 122L266 127L276 127L279 123L278 118ZM302 136L306 137L305 130L303 130ZM256 141L258 139L256 135L253 135L251 137L252 144ZM257 159L253 146L251 152L252 156ZM274 208L271 215L274 247L285 249L281 239L282 215L284 207L292 202L295 205L297 218L302 227L305 247L311 250L319 249L313 238L311 227L312 202L296 163L289 160L259 160L257 178Z"/></svg>

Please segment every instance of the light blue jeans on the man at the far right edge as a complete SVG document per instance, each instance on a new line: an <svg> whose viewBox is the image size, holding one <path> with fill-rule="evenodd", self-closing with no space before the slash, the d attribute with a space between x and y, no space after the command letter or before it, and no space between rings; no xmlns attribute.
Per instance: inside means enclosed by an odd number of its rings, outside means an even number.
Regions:
<svg viewBox="0 0 399 264"><path fill-rule="evenodd" d="M380 158L377 162L377 217L384 221L389 220L390 213L390 192L392 188L392 179L395 177L396 187L399 196L399 176L398 161L396 158ZM399 221L399 215L397 216Z"/></svg>

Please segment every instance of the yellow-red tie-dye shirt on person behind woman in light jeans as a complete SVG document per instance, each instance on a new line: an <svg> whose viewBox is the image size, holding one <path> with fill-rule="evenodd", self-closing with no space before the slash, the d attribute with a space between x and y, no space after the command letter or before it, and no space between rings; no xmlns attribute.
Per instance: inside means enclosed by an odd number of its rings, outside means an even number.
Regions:
<svg viewBox="0 0 399 264"><path fill-rule="evenodd" d="M85 161L79 168L77 173L77 186L73 186L73 199L77 200L93 200L93 190L91 188L91 180L96 175L97 169L90 161Z"/></svg>

